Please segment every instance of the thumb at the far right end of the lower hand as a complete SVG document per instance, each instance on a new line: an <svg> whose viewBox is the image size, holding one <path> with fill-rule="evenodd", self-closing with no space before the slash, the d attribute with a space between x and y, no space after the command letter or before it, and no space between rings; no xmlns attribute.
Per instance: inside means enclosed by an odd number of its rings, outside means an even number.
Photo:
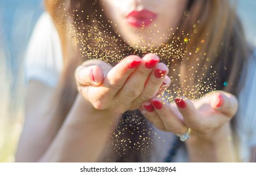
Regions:
<svg viewBox="0 0 256 175"><path fill-rule="evenodd" d="M222 91L212 94L210 104L213 109L230 118L235 115L238 108L237 98L230 93L223 93Z"/></svg>

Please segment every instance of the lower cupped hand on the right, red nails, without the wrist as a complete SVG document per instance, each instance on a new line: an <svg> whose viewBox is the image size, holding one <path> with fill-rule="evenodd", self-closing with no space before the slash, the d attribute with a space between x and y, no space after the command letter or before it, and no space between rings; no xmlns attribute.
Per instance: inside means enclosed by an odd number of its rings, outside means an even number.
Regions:
<svg viewBox="0 0 256 175"><path fill-rule="evenodd" d="M200 99L175 99L168 104L160 98L143 103L141 111L158 129L200 139L218 139L228 131L229 121L235 115L238 102L235 96L215 91Z"/></svg>

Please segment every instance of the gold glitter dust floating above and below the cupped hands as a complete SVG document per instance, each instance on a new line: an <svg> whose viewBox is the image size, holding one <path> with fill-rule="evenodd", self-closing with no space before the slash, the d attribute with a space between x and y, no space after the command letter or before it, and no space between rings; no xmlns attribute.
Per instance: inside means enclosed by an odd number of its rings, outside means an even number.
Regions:
<svg viewBox="0 0 256 175"><path fill-rule="evenodd" d="M141 30L148 33L147 36L151 36L150 41L145 41L143 37L138 35L140 43L131 43L130 41L123 41L119 32L113 31L113 26L116 24L106 21L103 15L98 12L99 9L95 9L95 14L91 16L84 11L79 11L79 5L73 12L67 11L65 4L62 4L59 9L64 11L67 20L63 21L63 27L77 42L81 58L84 60L101 59L115 65L130 54L137 54L141 57L146 53L158 55L161 62L168 66L168 76L172 80L170 87L160 95L168 103L173 103L175 98L180 97L197 99L216 89L218 75L216 71L213 71L212 66L207 66L207 63L210 62L208 54L202 53L201 47L188 49L192 43L190 34L182 31L177 36L177 30L171 28L169 29L170 35L165 36L159 31L153 32L142 27ZM82 17L82 15L86 17ZM197 24L193 25L192 34L198 32L197 26ZM159 43L158 40L163 37L168 42ZM202 47L205 47L206 39L199 41ZM227 82L224 83L224 86L227 86ZM117 126L110 139L110 144L116 153L121 156L126 153L130 154L130 150L145 152L150 150L151 144L157 138L155 131L148 127L150 123L140 113L128 111L120 123L121 125ZM127 133L135 139L127 137Z"/></svg>

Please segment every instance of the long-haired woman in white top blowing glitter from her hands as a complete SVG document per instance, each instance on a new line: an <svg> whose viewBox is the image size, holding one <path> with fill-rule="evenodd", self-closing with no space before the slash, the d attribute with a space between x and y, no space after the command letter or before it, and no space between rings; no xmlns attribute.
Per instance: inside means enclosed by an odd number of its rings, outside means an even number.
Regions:
<svg viewBox="0 0 256 175"><path fill-rule="evenodd" d="M255 161L255 58L227 1L45 2L16 161Z"/></svg>

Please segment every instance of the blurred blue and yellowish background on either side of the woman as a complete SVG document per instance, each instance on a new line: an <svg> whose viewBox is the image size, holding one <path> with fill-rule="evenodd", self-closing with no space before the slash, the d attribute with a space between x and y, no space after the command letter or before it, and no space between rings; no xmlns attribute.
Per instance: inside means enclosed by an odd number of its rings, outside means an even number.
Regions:
<svg viewBox="0 0 256 175"><path fill-rule="evenodd" d="M256 1L233 0L248 42L256 46ZM23 63L43 0L0 0L0 162L13 162L23 127Z"/></svg>

